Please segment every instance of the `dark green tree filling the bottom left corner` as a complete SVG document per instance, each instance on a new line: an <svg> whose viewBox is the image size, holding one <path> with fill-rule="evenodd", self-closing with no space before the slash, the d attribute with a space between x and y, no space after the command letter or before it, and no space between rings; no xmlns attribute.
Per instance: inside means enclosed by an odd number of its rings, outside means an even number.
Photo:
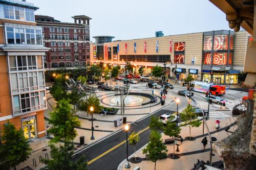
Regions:
<svg viewBox="0 0 256 170"><path fill-rule="evenodd" d="M9 169L26 161L32 149L23 130L16 130L11 123L4 125L3 143L0 144L0 169Z"/></svg>

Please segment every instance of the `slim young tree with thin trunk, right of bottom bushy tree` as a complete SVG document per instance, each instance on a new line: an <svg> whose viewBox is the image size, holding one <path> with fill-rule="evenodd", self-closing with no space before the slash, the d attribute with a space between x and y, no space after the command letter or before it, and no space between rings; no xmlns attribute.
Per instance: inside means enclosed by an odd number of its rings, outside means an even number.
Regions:
<svg viewBox="0 0 256 170"><path fill-rule="evenodd" d="M176 126L175 122L172 123L172 118L167 120L166 127L164 128L165 135L169 137L173 137L173 141L174 141L174 137L178 137L178 135L180 134L180 131L181 131L180 127ZM175 150L175 145L174 145L174 150ZM174 157L174 154L173 154L173 157Z"/></svg>

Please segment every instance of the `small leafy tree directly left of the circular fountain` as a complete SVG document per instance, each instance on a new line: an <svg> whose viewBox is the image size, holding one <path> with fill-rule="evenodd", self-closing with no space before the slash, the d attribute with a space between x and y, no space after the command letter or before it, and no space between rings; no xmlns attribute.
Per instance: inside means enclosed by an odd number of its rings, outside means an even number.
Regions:
<svg viewBox="0 0 256 170"><path fill-rule="evenodd" d="M100 106L100 101L95 94L90 95L88 100L84 101L80 108L81 110L87 111L87 115L89 115L91 106L94 108L94 113L100 113L102 107Z"/></svg>

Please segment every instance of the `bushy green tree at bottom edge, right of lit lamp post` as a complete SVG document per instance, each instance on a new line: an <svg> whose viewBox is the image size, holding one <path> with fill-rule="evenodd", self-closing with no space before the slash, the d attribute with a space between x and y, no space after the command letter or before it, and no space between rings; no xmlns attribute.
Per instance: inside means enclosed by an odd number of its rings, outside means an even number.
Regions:
<svg viewBox="0 0 256 170"><path fill-rule="evenodd" d="M148 142L147 147L143 149L143 154L148 153L148 157L152 162L156 163L158 159L166 158L167 149L164 143L162 142L161 134L156 130L151 131L150 142Z"/></svg>

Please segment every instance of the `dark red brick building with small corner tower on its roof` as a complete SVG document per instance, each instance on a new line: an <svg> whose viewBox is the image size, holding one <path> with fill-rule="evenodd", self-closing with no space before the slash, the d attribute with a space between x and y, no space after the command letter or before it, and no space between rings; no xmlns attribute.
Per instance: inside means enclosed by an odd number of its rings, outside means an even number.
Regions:
<svg viewBox="0 0 256 170"><path fill-rule="evenodd" d="M73 16L74 23L60 22L50 16L35 15L42 27L43 42L51 50L44 63L46 70L84 67L90 61L90 17Z"/></svg>

